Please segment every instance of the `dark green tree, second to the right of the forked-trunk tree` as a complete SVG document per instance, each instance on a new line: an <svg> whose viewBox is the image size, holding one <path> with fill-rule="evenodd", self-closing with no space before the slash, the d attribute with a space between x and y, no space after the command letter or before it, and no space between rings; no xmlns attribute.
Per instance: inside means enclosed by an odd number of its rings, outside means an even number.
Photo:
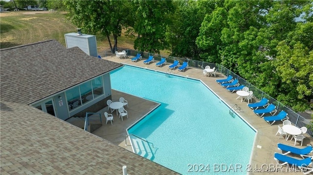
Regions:
<svg viewBox="0 0 313 175"><path fill-rule="evenodd" d="M172 23L168 25L166 38L172 50L172 56L197 59L200 50L196 44L199 28L205 16L205 7L200 1L173 1L176 6Z"/></svg>

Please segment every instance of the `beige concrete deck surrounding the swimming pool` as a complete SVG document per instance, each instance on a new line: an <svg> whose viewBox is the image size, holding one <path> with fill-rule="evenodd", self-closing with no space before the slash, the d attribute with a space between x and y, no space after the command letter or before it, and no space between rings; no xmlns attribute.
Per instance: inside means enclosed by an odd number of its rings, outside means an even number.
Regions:
<svg viewBox="0 0 313 175"><path fill-rule="evenodd" d="M115 56L108 56L108 57L102 57L102 58L111 60L114 62L130 64L130 65L148 68L148 69L157 70L157 71L162 71L162 72L166 72L168 70L168 66L172 64L172 63L167 63L166 65L163 65L162 67L157 67L155 64L158 61L155 61L150 64L144 64L143 60L145 60L146 58L142 58L141 60L138 60L137 62L132 62L130 58L120 59ZM253 151L252 151L252 159L250 163L251 165L250 168L252 170L250 175L254 175L254 174L257 174L257 175L268 175L268 174L302 175L303 174L302 172L298 172L298 173L286 172L288 171L286 167L284 167L283 170L279 170L280 172L268 173L268 172L260 170L263 164L266 164L268 166L276 165L276 161L274 160L274 153L275 152L281 153L281 151L277 149L277 143L283 143L283 144L293 146L294 141L290 141L290 140L286 141L283 137L278 139L279 135L275 136L278 130L277 125L282 126L281 121L276 121L273 125L269 125L263 118L260 118L257 115L255 115L253 111L247 107L246 101L241 102L240 99L236 99L238 97L236 93L230 93L227 90L225 90L225 88L223 88L221 85L216 83L215 80L225 78L224 75L222 75L221 73L217 73L216 77L204 77L202 74L202 70L197 69L197 68L188 68L184 72L179 72L177 69L175 69L172 74L183 76L183 77L200 79L216 95L218 95L221 99L223 99L224 102L227 103L229 106L237 104L241 108L241 112L239 112L241 117L243 117L252 127L254 127L257 130L255 144L254 144ZM121 121L121 119L116 117L116 113L114 111L112 113L114 115L113 125L111 125L110 122L107 125L104 124L102 127L94 131L92 134L105 138L109 140L110 142L116 145L119 145L123 148L126 148L128 150L132 150L130 146L125 146L125 136L127 135L126 128L132 125L139 118L143 117L150 110L155 108L158 104L149 100L145 100L139 97L134 97L129 94L124 94L122 92L112 90L112 101L118 101L119 97L124 97L125 99L128 100L129 108L126 107L125 109L128 111L129 118L128 119L125 118L124 121ZM255 99L253 99L252 102L255 102ZM106 110L107 108L104 108L103 110L100 111L102 116L103 116L103 112ZM312 145L311 141L313 140L313 138L309 135L305 135L305 136L306 138L303 141L303 147ZM299 142L297 142L296 147L303 148L301 147L301 145L299 145ZM234 162L234 164L236 164L236 162ZM246 165L243 165L243 170L246 170L245 166ZM267 168L267 167L265 166L264 168ZM274 168L277 168L277 166Z"/></svg>

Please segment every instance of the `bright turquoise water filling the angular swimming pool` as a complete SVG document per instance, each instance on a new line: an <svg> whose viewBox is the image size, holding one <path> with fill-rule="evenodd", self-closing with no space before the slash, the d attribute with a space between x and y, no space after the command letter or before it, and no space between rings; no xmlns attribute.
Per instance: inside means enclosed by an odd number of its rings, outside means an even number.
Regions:
<svg viewBox="0 0 313 175"><path fill-rule="evenodd" d="M161 103L128 131L154 144L151 160L183 175L246 174L255 131L232 117L201 81L124 66L111 74L111 83L112 89Z"/></svg>

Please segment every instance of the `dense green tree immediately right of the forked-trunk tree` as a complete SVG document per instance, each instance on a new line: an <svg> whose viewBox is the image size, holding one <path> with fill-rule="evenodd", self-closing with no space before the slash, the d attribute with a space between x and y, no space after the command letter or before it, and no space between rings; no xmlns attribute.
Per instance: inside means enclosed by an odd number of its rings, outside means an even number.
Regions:
<svg viewBox="0 0 313 175"><path fill-rule="evenodd" d="M134 48L152 53L159 53L168 46L165 32L171 22L170 14L174 11L171 0L136 0L134 32L138 37Z"/></svg>

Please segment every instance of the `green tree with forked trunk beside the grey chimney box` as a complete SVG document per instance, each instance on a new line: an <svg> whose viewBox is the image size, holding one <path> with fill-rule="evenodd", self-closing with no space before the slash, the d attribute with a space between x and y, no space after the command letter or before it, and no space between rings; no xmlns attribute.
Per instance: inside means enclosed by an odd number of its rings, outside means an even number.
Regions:
<svg viewBox="0 0 313 175"><path fill-rule="evenodd" d="M65 0L68 18L83 32L101 33L110 45L112 53L117 51L117 37L121 35L126 23L129 7L128 1L116 0ZM113 36L113 46L110 35Z"/></svg>

